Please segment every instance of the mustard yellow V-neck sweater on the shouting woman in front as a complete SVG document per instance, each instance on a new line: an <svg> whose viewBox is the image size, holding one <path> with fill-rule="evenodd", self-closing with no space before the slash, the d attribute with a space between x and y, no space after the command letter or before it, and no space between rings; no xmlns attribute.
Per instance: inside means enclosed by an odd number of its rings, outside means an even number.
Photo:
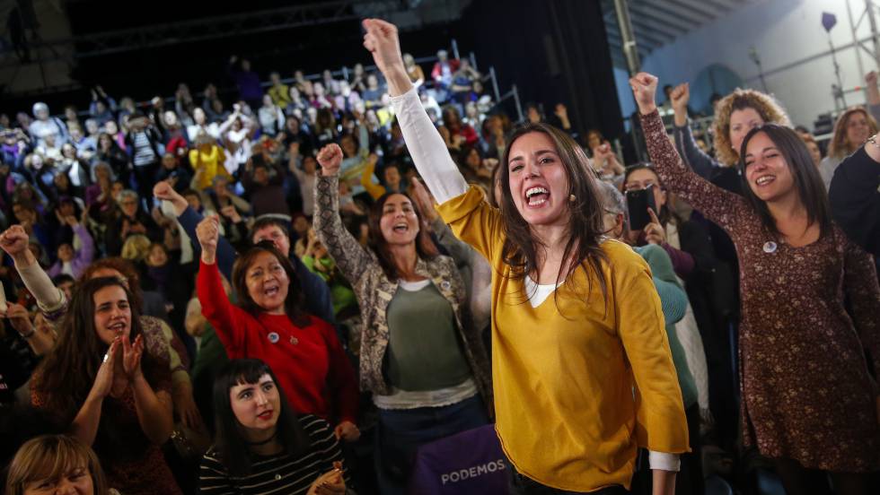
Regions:
<svg viewBox="0 0 880 495"><path fill-rule="evenodd" d="M638 447L688 451L660 299L641 256L606 240L607 299L577 270L532 308L523 280L509 278L501 215L480 189L438 211L493 266L496 430L517 471L560 490L629 488Z"/></svg>

